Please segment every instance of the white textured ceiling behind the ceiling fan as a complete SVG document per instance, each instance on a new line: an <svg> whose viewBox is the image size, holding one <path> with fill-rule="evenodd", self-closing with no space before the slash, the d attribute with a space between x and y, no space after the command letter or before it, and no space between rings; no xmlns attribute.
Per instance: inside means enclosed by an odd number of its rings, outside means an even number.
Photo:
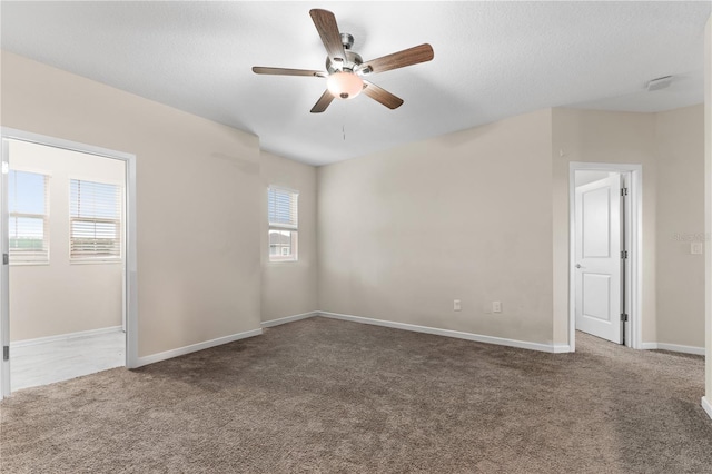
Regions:
<svg viewBox="0 0 712 474"><path fill-rule="evenodd" d="M700 2L12 2L2 49L260 137L324 165L546 107L657 111L701 103ZM429 42L431 62L375 75L365 96L309 113L325 79L309 9L333 11L364 60ZM669 89L649 80L673 75Z"/></svg>

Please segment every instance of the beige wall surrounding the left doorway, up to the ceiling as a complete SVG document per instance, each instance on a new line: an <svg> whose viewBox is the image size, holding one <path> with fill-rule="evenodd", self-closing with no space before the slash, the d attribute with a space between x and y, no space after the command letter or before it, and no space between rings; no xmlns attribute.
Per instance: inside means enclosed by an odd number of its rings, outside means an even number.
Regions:
<svg viewBox="0 0 712 474"><path fill-rule="evenodd" d="M1 120L137 156L139 356L259 328L257 137L4 51Z"/></svg>

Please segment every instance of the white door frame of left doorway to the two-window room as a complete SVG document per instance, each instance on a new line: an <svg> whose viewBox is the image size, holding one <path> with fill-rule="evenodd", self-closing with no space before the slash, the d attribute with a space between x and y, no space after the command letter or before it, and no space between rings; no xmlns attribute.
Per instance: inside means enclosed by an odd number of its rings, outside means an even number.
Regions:
<svg viewBox="0 0 712 474"><path fill-rule="evenodd" d="M2 138L2 175L0 195L0 246L2 254L9 254L9 238L7 231L8 223L8 200L7 184L9 171L9 144L8 139L28 141L31 144L46 145L49 147L66 150L79 151L88 155L96 155L103 158L119 159L126 162L126 261L123 271L125 300L123 312L126 314L126 366L128 368L138 367L138 265L136 248L136 155L110 150L108 148L95 147L77 141L63 140L61 138L48 137L44 135L16 130L8 127L0 128ZM9 265L2 265L0 271L0 343L2 346L10 346L10 305L9 305ZM10 395L10 362L0 357L0 399Z"/></svg>

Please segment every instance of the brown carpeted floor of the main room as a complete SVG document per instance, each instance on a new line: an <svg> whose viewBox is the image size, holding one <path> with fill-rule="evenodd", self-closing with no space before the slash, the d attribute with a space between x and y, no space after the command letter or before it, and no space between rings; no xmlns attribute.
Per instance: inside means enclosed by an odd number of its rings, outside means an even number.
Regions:
<svg viewBox="0 0 712 474"><path fill-rule="evenodd" d="M702 357L325 318L0 403L2 473L712 473Z"/></svg>

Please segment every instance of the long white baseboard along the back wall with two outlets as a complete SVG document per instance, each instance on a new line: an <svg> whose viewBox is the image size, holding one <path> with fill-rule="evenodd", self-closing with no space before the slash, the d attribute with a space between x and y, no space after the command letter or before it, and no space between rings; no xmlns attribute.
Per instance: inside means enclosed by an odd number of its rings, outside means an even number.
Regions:
<svg viewBox="0 0 712 474"><path fill-rule="evenodd" d="M319 316L328 317L332 319L348 320L352 323L372 324L375 326L390 327L394 329L413 330L415 333L434 334L436 336L456 337L458 339L475 340L477 343L496 344L500 346L517 347L521 349L538 350L544 353L563 353L570 352L568 345L548 345L540 343L528 343L526 340L506 339L503 337L483 336L481 334L463 333L452 329L439 329L436 327L417 326L407 323L396 323L384 319L373 319L362 316L343 315L338 313L317 312Z"/></svg>

